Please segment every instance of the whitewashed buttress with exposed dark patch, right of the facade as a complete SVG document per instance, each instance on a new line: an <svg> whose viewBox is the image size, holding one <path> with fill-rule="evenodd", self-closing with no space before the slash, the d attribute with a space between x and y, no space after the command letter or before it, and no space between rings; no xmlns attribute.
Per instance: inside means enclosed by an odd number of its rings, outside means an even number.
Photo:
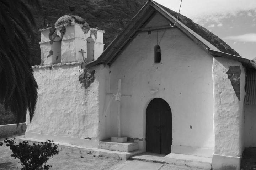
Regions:
<svg viewBox="0 0 256 170"><path fill-rule="evenodd" d="M238 61L222 57L213 60L214 170L240 169L244 150L245 74Z"/></svg>

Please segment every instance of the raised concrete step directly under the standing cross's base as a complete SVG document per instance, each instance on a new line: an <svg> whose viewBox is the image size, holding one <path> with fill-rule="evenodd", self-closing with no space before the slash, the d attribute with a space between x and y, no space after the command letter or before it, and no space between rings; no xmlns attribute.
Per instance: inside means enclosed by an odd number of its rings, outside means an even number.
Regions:
<svg viewBox="0 0 256 170"><path fill-rule="evenodd" d="M100 141L100 149L107 149L111 151L131 152L138 149L138 142L111 142L111 140Z"/></svg>

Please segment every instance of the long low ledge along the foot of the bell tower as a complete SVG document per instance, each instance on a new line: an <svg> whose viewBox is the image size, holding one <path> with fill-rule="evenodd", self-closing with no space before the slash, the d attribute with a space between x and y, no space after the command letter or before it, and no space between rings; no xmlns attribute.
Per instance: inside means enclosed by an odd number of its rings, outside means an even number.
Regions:
<svg viewBox="0 0 256 170"><path fill-rule="evenodd" d="M28 141L30 145L33 145L33 143L38 143L38 142L46 142L43 140L37 140L37 139L32 139L32 138L20 138L17 139L17 141ZM67 143L59 143L54 141L54 143L59 144L58 148L60 152L66 152L66 153L77 153L80 156L91 154L95 155L98 157L107 157L107 158L116 158L120 160L128 160L129 157L135 155L135 154L140 154L143 152L143 150L135 150L131 152L120 152L120 151L110 151L106 149L99 149L99 148L88 148L88 147L82 147L82 146L76 146L76 145L70 145Z"/></svg>

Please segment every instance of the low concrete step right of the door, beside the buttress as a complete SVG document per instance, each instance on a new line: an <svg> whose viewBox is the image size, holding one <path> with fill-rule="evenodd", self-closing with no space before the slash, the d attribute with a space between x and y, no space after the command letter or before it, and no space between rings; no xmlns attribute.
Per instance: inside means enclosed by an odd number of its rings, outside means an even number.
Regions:
<svg viewBox="0 0 256 170"><path fill-rule="evenodd" d="M169 164L190 166L200 169L212 169L212 158L207 157L170 153L165 156L164 160Z"/></svg>

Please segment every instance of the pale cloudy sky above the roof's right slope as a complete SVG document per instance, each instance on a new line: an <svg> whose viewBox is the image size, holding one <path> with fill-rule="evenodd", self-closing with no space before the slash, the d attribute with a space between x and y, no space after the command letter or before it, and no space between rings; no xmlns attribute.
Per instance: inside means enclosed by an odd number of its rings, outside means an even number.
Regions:
<svg viewBox="0 0 256 170"><path fill-rule="evenodd" d="M181 0L155 0L178 12ZM182 0L180 13L244 58L256 58L256 0Z"/></svg>

